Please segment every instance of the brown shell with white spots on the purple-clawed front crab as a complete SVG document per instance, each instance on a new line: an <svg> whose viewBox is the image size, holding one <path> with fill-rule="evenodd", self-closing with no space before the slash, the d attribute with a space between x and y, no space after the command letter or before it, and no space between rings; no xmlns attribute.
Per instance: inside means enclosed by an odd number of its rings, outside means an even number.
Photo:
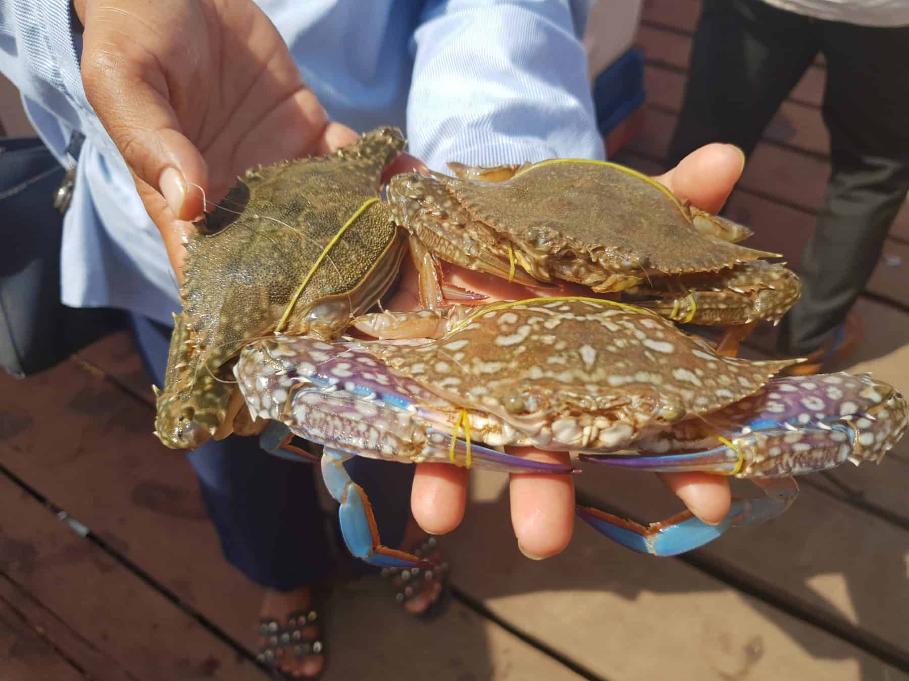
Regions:
<svg viewBox="0 0 909 681"><path fill-rule="evenodd" d="M650 312L591 299L487 305L440 340L362 346L455 405L585 449L723 409L797 361L723 357Z"/></svg>

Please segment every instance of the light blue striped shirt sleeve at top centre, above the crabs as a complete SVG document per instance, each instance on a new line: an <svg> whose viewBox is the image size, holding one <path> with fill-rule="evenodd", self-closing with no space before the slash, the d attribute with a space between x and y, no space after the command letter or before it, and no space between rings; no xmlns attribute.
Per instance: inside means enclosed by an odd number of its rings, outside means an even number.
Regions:
<svg viewBox="0 0 909 681"><path fill-rule="evenodd" d="M430 168L604 158L581 44L587 5L449 0L413 38L410 153Z"/></svg>

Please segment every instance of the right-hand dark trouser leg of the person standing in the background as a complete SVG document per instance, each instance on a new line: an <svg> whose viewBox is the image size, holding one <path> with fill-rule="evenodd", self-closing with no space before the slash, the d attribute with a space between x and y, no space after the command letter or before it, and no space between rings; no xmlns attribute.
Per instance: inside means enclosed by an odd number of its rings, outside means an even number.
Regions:
<svg viewBox="0 0 909 681"><path fill-rule="evenodd" d="M909 26L822 25L832 171L783 321L780 350L794 355L837 337L909 191Z"/></svg>

